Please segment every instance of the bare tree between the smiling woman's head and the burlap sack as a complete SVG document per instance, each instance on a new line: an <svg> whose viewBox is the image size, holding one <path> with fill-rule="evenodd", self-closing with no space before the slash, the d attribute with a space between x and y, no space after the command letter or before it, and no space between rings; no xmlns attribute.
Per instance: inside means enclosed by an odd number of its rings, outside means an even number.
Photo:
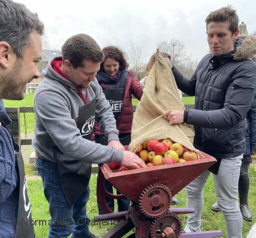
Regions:
<svg viewBox="0 0 256 238"><path fill-rule="evenodd" d="M145 70L146 54L144 48L139 43L130 42L130 45L126 47L127 61L131 68L134 69L134 73L138 79L141 79L141 75Z"/></svg>

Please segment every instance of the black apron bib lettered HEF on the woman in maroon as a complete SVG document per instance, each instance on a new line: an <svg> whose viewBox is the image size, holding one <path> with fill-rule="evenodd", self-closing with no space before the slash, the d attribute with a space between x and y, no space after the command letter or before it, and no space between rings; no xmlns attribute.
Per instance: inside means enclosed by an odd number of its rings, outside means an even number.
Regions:
<svg viewBox="0 0 256 238"><path fill-rule="evenodd" d="M114 119L117 121L118 116L122 110L122 100L124 95L124 88L118 89L102 89L105 94L106 100L110 103Z"/></svg>

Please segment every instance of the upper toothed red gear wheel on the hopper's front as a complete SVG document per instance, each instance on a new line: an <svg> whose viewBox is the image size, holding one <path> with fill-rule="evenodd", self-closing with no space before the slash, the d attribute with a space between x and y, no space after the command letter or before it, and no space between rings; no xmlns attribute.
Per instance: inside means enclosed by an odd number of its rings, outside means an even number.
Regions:
<svg viewBox="0 0 256 238"><path fill-rule="evenodd" d="M168 211L171 202L172 193L170 189L161 183L155 183L145 188L139 199L142 213L150 218Z"/></svg>

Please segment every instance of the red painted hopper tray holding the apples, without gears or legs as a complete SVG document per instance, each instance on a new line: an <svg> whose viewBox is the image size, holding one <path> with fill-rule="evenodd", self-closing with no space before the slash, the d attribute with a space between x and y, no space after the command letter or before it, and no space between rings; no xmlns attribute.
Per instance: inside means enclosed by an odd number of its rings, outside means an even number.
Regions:
<svg viewBox="0 0 256 238"><path fill-rule="evenodd" d="M110 183L122 194L135 203L139 203L141 192L154 183L167 186L174 196L203 171L216 162L216 159L203 152L199 159L176 164L160 165L148 168L112 171L108 164L102 164L100 169Z"/></svg>

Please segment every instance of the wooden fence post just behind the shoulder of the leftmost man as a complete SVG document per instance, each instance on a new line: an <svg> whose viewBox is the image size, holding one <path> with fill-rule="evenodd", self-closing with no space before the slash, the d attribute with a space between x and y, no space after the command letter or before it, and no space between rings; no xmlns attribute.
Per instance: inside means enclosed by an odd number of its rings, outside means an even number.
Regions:
<svg viewBox="0 0 256 238"><path fill-rule="evenodd" d="M21 145L21 127L20 127L20 108L19 107L6 107L8 116L12 119L12 124L8 126L16 143Z"/></svg>

